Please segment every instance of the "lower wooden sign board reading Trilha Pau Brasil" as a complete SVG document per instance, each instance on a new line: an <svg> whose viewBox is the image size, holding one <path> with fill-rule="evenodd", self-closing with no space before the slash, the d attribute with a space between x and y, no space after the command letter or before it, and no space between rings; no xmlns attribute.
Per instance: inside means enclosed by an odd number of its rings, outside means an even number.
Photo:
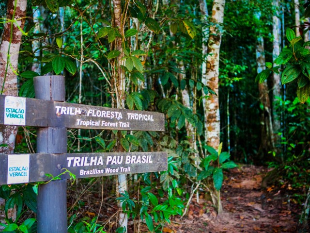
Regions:
<svg viewBox="0 0 310 233"><path fill-rule="evenodd" d="M10 184L13 176L24 174L18 173L19 170L25 169L23 168L25 167L24 161L20 160L20 164L15 162L13 171L9 156L0 154L0 185ZM19 154L18 156L23 155ZM29 174L28 182L30 183L48 181L50 178L46 174L55 177L65 169L75 174L77 178L166 171L168 169L167 152L42 153L25 156L29 156L27 157L29 159L27 171ZM66 173L61 178L69 179L70 177ZM20 181L20 179L13 180L15 183Z"/></svg>

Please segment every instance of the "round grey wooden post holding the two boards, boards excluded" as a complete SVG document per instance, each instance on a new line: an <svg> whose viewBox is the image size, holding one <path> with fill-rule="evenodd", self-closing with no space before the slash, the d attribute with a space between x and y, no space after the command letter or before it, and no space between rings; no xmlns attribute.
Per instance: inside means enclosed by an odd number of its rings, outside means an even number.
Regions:
<svg viewBox="0 0 310 233"><path fill-rule="evenodd" d="M41 100L65 100L63 76L34 77L35 96ZM37 153L66 153L66 128L46 127L37 131ZM55 167L56 169L56 167ZM39 185L38 233L67 233L66 180Z"/></svg>

